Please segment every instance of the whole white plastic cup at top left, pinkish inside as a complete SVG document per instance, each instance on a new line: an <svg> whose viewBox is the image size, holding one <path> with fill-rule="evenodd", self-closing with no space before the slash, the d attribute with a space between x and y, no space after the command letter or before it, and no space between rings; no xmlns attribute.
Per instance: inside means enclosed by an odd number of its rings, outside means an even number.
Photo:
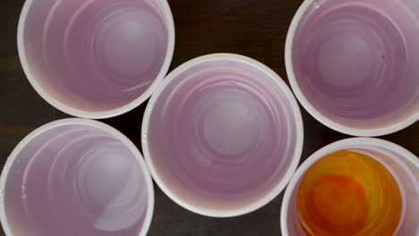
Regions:
<svg viewBox="0 0 419 236"><path fill-rule="evenodd" d="M30 84L74 116L124 114L166 76L175 27L166 0L28 0L18 49Z"/></svg>

